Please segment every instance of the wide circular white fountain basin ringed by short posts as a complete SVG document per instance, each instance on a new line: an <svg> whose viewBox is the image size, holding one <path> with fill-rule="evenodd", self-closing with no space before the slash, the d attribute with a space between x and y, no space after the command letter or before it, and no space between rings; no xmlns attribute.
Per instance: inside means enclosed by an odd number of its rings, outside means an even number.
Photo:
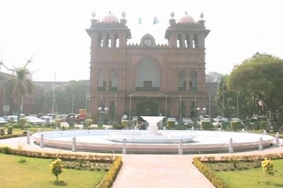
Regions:
<svg viewBox="0 0 283 188"><path fill-rule="evenodd" d="M259 150L260 141L262 148L275 143L273 136L245 132L158 130L158 135L147 133L146 130L50 131L33 134L31 138L39 146L99 153L122 153L124 148L127 153L178 154L180 148L184 154L228 153L231 143L233 152Z"/></svg>

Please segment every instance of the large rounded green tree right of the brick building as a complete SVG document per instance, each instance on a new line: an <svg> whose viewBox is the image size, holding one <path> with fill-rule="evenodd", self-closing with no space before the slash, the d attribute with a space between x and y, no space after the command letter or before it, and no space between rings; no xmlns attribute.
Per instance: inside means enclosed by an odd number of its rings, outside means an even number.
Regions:
<svg viewBox="0 0 283 188"><path fill-rule="evenodd" d="M283 105L283 60L270 54L256 53L236 66L227 79L227 88L247 93L262 111L275 112ZM263 108L265 107L265 108Z"/></svg>

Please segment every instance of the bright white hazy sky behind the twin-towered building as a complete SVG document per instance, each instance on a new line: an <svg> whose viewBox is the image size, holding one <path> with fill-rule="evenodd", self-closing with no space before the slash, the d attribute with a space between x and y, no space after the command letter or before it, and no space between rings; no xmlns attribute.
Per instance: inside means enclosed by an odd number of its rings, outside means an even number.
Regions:
<svg viewBox="0 0 283 188"><path fill-rule="evenodd" d="M283 58L283 1L281 0L0 0L0 61L8 69L23 67L33 81L89 79L92 13L101 20L126 13L132 39L149 33L156 44L167 44L171 12L178 22L187 12L195 21L204 13L206 72L230 74L236 64L256 52ZM154 17L158 24L153 24ZM142 24L139 24L139 18ZM1 66L1 71L11 74Z"/></svg>

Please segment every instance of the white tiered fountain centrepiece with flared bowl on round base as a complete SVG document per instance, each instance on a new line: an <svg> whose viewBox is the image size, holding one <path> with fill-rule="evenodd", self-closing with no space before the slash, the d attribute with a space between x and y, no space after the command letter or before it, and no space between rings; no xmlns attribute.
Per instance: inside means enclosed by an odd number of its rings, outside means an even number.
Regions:
<svg viewBox="0 0 283 188"><path fill-rule="evenodd" d="M146 131L115 131L109 134L107 140L127 143L178 143L181 139L187 143L195 137L188 131L158 131L157 124L164 119L162 116L141 116L141 118L149 123Z"/></svg>

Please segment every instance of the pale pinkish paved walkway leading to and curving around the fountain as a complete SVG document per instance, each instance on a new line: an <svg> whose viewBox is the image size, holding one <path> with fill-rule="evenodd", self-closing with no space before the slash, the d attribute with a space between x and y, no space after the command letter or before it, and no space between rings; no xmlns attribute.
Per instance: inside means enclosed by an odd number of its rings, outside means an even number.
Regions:
<svg viewBox="0 0 283 188"><path fill-rule="evenodd" d="M283 140L280 139L280 143ZM57 150L54 148L40 148L33 144L27 144L26 137L15 139L0 140L0 146L10 146L18 148L23 144L24 150L45 151L50 153L74 153L71 151ZM86 152L76 152L84 154L93 154ZM244 153L219 153L205 154L205 156L221 155L263 155L267 153L283 153L283 147L271 147L263 151L248 151ZM98 153L96 153L98 154ZM105 155L105 154L101 154ZM202 173L192 165L192 158L204 155L136 155L123 154L122 168L112 185L112 188L210 188L214 187Z"/></svg>

